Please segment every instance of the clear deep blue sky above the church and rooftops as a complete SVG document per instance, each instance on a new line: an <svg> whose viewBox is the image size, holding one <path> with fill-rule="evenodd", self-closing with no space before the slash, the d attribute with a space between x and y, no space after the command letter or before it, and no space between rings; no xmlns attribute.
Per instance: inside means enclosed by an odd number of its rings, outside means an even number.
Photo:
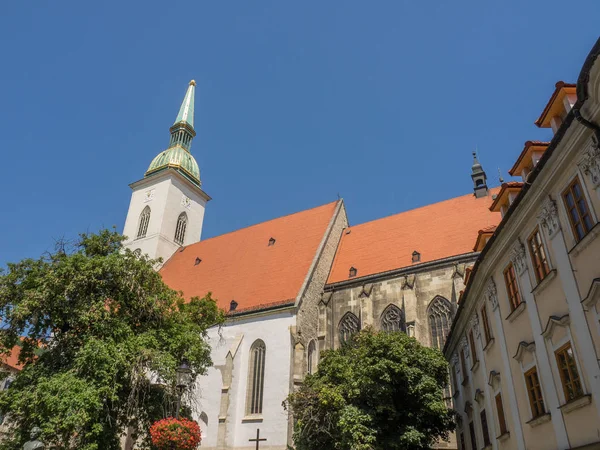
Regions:
<svg viewBox="0 0 600 450"><path fill-rule="evenodd" d="M600 2L5 2L0 267L116 225L198 82L203 237L344 197L352 224L491 184Z"/></svg>

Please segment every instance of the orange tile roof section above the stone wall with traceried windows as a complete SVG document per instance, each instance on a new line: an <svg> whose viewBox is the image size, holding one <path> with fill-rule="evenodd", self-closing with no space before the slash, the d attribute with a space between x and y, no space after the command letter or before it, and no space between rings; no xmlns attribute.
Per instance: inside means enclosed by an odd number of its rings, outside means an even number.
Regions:
<svg viewBox="0 0 600 450"><path fill-rule="evenodd" d="M478 231L500 222L500 214L488 209L498 190L479 199L463 195L349 227L327 283L348 280L352 266L356 278L411 266L415 250L421 254L420 263L471 253Z"/></svg>

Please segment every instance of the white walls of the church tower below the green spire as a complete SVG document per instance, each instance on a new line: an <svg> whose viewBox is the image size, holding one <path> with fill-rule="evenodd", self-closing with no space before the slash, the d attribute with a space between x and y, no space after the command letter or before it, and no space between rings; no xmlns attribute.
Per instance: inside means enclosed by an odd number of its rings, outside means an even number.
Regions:
<svg viewBox="0 0 600 450"><path fill-rule="evenodd" d="M164 261L180 247L175 243L177 219L187 214L187 227L183 245L200 240L204 210L208 200L199 188L172 169L143 178L130 185L133 192L123 234L124 245L131 250L140 249L142 254ZM146 236L137 238L140 215L150 208L150 221Z"/></svg>

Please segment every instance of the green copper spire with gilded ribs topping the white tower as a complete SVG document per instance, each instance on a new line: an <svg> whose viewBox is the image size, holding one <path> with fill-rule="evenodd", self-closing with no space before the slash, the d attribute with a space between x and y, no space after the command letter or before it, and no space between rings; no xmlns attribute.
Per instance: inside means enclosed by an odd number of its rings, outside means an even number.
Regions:
<svg viewBox="0 0 600 450"><path fill-rule="evenodd" d="M192 139L196 136L194 130L194 94L196 82L190 81L188 90L183 98L181 108L175 123L171 126L171 141L169 148L159 153L150 163L144 177L156 172L173 168L184 175L196 186L200 186L200 169L198 163L190 153Z"/></svg>

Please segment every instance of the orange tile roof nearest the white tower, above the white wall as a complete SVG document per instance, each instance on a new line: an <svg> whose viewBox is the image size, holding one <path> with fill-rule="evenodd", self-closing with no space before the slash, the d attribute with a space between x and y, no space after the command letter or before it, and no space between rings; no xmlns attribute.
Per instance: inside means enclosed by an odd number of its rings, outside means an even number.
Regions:
<svg viewBox="0 0 600 450"><path fill-rule="evenodd" d="M226 311L231 300L238 303L236 312L293 304L338 204L188 245L175 252L160 273L187 299L212 292ZM201 262L196 264L196 258Z"/></svg>

